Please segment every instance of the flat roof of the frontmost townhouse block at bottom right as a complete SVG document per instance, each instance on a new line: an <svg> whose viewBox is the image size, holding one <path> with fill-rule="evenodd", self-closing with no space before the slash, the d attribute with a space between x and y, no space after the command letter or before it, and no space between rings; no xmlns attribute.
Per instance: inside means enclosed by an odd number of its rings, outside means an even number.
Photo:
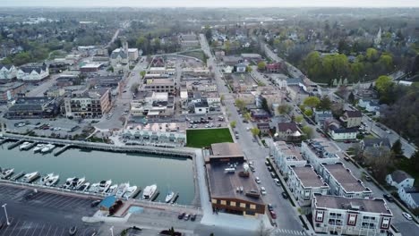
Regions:
<svg viewBox="0 0 419 236"><path fill-rule="evenodd" d="M320 194L314 194L314 198L317 207L392 215L386 202L381 198L344 198Z"/></svg>

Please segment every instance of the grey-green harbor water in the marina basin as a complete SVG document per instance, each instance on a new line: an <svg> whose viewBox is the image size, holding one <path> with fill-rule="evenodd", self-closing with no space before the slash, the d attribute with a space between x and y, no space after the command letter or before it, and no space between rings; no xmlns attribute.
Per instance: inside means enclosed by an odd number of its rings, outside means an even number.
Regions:
<svg viewBox="0 0 419 236"><path fill-rule="evenodd" d="M164 202L168 190L179 192L176 203L190 205L194 197L192 160L175 156L157 156L140 153L113 153L70 148L59 156L21 151L19 147L0 146L0 167L14 168L14 173L39 172L60 175L57 186L69 177L86 177L90 183L112 180L112 184L129 181L143 190L157 184L156 201ZM142 191L141 191L142 192ZM140 195L141 196L141 193Z"/></svg>

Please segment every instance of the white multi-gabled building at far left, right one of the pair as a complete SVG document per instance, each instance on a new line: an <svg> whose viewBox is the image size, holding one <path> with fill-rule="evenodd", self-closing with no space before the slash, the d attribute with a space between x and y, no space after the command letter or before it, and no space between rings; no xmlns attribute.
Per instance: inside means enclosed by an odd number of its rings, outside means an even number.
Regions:
<svg viewBox="0 0 419 236"><path fill-rule="evenodd" d="M49 71L46 63L25 64L19 67L19 70L16 73L17 79L22 81L40 81L47 78L48 75Z"/></svg>

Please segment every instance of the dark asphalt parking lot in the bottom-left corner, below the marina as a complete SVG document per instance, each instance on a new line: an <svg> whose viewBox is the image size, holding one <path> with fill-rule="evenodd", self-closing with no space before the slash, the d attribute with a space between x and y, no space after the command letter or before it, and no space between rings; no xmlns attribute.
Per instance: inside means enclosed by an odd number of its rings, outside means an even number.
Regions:
<svg viewBox="0 0 419 236"><path fill-rule="evenodd" d="M10 225L6 224L2 211L1 235L49 236L69 235L69 229L77 227L77 235L97 232L100 223L83 223L82 216L93 215L97 207L90 207L89 198L77 198L38 191L31 198L32 189L0 184L0 204L7 204ZM41 213L41 214L39 214Z"/></svg>

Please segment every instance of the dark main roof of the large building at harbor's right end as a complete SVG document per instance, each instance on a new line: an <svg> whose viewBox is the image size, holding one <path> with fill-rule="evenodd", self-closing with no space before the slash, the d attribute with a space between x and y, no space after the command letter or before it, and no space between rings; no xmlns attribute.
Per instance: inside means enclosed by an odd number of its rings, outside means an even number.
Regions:
<svg viewBox="0 0 419 236"><path fill-rule="evenodd" d="M250 201L256 204L263 204L262 197L251 198L245 195L246 192L255 190L260 193L252 173L249 177L240 177L239 172L244 171L243 162L235 167L234 173L227 173L226 168L230 168L228 163L207 164L209 179L209 191L211 198L236 198ZM243 188L243 192L237 191Z"/></svg>

